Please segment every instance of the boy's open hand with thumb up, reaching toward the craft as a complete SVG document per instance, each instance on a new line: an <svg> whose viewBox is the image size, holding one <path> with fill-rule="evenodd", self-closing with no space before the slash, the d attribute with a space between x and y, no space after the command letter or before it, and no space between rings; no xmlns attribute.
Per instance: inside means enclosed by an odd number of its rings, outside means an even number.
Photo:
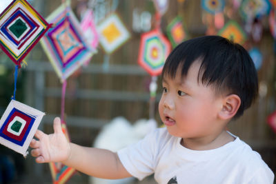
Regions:
<svg viewBox="0 0 276 184"><path fill-rule="evenodd" d="M54 134L44 134L40 130L34 134L39 139L32 139L30 147L34 148L31 155L37 157L37 163L66 161L70 156L70 145L61 130L59 118L54 120Z"/></svg>

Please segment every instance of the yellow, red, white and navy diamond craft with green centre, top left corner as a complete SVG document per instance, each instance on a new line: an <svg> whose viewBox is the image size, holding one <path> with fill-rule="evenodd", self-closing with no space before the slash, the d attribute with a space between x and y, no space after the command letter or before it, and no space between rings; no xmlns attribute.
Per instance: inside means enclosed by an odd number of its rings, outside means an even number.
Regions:
<svg viewBox="0 0 276 184"><path fill-rule="evenodd" d="M12 1L0 14L0 47L20 68L21 61L49 28L27 1Z"/></svg>

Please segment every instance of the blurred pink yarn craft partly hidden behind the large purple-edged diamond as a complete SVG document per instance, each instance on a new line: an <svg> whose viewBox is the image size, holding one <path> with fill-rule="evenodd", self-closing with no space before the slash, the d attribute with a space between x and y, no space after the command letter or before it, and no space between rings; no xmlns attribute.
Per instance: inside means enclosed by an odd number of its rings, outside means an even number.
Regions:
<svg viewBox="0 0 276 184"><path fill-rule="evenodd" d="M94 23L94 17L91 10L88 10L81 21L81 30L84 32L84 37L88 39L90 47L96 49L99 44L99 35Z"/></svg>

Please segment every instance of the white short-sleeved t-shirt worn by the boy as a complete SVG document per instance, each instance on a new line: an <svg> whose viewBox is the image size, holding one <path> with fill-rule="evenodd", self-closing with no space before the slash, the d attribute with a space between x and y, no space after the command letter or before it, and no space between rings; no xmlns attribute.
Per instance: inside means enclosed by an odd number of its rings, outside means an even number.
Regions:
<svg viewBox="0 0 276 184"><path fill-rule="evenodd" d="M143 140L119 150L121 163L139 180L155 173L161 184L273 183L274 174L261 156L236 137L214 150L189 150L181 138L158 128Z"/></svg>

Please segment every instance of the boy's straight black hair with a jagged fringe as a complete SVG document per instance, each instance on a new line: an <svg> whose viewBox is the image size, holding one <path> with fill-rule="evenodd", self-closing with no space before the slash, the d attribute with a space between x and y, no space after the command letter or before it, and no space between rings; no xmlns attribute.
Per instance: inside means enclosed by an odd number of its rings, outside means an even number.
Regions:
<svg viewBox="0 0 276 184"><path fill-rule="evenodd" d="M237 94L241 105L234 118L257 99L258 79L255 65L248 52L224 37L204 36L184 41L172 50L161 77L175 78L181 67L181 77L187 75L190 65L200 61L198 81L211 85L220 94ZM199 76L201 79L199 79Z"/></svg>

